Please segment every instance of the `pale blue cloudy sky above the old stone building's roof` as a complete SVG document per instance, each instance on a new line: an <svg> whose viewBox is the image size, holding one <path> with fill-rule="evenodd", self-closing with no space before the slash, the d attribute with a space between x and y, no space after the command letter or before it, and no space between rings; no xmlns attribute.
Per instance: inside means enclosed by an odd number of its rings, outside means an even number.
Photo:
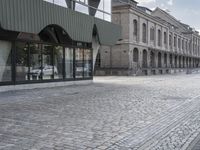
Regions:
<svg viewBox="0 0 200 150"><path fill-rule="evenodd" d="M200 0L135 0L139 6L167 10L182 23L200 32Z"/></svg>

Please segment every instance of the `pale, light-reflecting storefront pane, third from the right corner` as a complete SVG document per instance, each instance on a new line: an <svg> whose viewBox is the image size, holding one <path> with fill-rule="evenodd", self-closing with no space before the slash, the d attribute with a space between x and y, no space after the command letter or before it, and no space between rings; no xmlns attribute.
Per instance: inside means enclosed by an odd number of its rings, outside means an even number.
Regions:
<svg viewBox="0 0 200 150"><path fill-rule="evenodd" d="M73 49L65 48L65 78L73 78Z"/></svg>

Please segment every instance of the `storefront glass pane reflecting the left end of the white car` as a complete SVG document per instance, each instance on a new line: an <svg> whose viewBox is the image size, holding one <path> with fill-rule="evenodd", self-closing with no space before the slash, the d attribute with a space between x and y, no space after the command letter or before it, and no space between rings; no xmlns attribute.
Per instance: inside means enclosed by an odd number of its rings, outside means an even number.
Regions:
<svg viewBox="0 0 200 150"><path fill-rule="evenodd" d="M30 45L30 80L42 79L42 54L41 45Z"/></svg>

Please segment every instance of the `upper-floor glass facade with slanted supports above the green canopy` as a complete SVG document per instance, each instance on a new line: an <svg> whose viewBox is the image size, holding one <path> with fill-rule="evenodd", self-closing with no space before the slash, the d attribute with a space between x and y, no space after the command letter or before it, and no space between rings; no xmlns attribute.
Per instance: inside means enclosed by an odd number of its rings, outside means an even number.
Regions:
<svg viewBox="0 0 200 150"><path fill-rule="evenodd" d="M111 22L111 0L44 0Z"/></svg>

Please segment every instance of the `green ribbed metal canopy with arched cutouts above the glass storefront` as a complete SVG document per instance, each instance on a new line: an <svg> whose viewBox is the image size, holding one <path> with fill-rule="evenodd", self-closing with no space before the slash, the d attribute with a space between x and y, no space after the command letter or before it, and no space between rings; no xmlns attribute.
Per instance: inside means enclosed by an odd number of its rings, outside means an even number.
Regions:
<svg viewBox="0 0 200 150"><path fill-rule="evenodd" d="M89 43L96 26L102 45L114 45L121 38L118 25L43 0L0 0L0 24L5 30L34 34L55 24L71 39Z"/></svg>

